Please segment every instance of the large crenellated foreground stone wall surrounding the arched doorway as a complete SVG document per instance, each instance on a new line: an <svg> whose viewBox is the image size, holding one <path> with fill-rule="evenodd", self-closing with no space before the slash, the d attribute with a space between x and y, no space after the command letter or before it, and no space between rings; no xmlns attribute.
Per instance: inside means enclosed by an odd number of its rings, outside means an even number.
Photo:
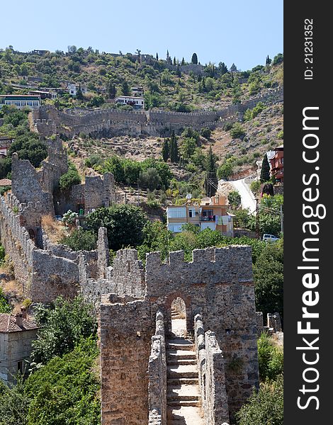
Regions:
<svg viewBox="0 0 333 425"><path fill-rule="evenodd" d="M98 256L103 237L101 229ZM145 267L135 249L126 249L118 251L113 266L105 260L98 264L106 266L97 272L103 277L87 278L81 258L80 287L88 300L100 305L102 424L145 424L149 416L152 424L159 423L163 413L157 406L164 404L158 394L165 382L157 317L163 317L169 334L171 304L177 297L186 305L188 331L197 341L199 334L205 336L196 344L204 365L201 382L214 382L201 388L205 414L215 418L207 423L232 417L259 383L251 248L198 249L190 263L184 261L184 251L171 252L167 263L159 253L150 253ZM205 331L195 329L198 319Z"/></svg>

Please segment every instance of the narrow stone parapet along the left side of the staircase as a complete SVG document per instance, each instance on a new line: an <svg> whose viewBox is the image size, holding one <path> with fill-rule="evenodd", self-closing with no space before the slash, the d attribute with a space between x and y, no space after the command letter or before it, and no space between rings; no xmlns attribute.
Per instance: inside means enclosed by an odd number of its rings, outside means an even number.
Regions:
<svg viewBox="0 0 333 425"><path fill-rule="evenodd" d="M166 348L164 336L164 318L162 312L156 315L156 331L152 336L152 348L148 363L148 406L149 424L151 417L166 424ZM156 413L157 412L157 415Z"/></svg>

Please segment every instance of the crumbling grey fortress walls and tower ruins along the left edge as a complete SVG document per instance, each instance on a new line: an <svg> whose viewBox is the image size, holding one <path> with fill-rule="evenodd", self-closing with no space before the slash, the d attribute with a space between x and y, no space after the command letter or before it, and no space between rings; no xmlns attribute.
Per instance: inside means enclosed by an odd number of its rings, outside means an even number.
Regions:
<svg viewBox="0 0 333 425"><path fill-rule="evenodd" d="M115 201L112 174L86 176L84 184L73 186L65 196L57 195L60 176L68 170L67 153L59 139L48 140L49 156L40 169L13 154L11 193L0 198L0 237L23 294L34 302L50 302L58 295L79 293L79 261L86 264L86 276L97 276L97 251L74 252L53 244L42 228L42 217L63 214L71 205L83 205L86 212ZM58 205L59 204L59 205Z"/></svg>

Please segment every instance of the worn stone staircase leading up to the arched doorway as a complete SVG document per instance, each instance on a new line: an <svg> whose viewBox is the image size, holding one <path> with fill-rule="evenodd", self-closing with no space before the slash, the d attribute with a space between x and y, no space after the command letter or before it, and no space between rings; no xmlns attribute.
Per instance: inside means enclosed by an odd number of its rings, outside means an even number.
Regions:
<svg viewBox="0 0 333 425"><path fill-rule="evenodd" d="M193 341L176 335L166 340L166 370L167 425L203 425Z"/></svg>

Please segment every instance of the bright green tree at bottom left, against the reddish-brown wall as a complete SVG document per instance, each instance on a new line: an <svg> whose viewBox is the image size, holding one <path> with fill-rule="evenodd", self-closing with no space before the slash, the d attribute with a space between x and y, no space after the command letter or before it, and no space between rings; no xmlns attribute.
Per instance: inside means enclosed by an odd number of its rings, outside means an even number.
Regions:
<svg viewBox="0 0 333 425"><path fill-rule="evenodd" d="M100 384L94 373L97 356L96 339L84 339L73 351L52 358L30 375L23 391L30 404L22 425L100 424Z"/></svg>

